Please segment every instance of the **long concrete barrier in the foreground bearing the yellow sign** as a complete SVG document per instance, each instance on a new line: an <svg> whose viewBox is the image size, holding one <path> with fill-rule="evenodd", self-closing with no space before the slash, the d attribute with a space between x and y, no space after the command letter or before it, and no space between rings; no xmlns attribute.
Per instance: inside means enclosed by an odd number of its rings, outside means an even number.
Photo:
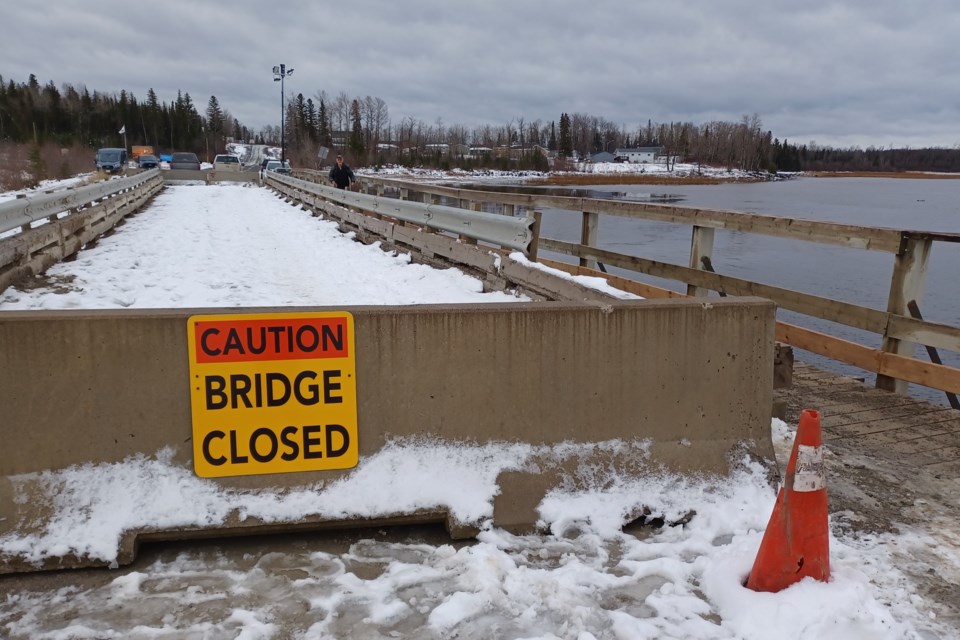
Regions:
<svg viewBox="0 0 960 640"><path fill-rule="evenodd" d="M139 540L357 524L319 508L286 521L233 510L203 523L132 527L113 555L56 546L39 553L24 542L41 539L63 508L54 495L62 486L52 479L64 469L162 459L192 474L191 388L200 383L191 379L190 316L317 311L352 314L361 463L392 440L413 436L534 446L643 440L650 460L680 472L727 473L737 450L773 461L774 305L761 299L6 312L0 572L129 562ZM566 462L538 451L529 456L535 463L499 474L495 525L530 530L544 493L569 479ZM629 473L637 461L611 451L596 455ZM202 482L322 492L354 472ZM454 536L481 524L452 516L442 504L384 508L361 524L424 520L445 521Z"/></svg>

